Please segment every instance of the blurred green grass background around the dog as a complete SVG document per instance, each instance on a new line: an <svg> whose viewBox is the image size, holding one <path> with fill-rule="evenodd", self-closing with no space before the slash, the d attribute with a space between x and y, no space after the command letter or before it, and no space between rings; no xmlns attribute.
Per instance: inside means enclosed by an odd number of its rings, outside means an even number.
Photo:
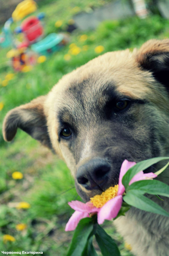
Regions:
<svg viewBox="0 0 169 256"><path fill-rule="evenodd" d="M38 12L46 14L47 35L64 30L76 12L107 2L41 0L38 2ZM55 27L58 20L62 23L59 28ZM169 21L158 14L151 14L146 19L131 17L104 21L95 31L75 30L67 46L48 56L44 63L33 66L31 71L15 73L6 86L3 83L5 76L14 72L6 58L10 48L0 49L0 129L10 109L46 94L64 74L99 54L125 48L132 50L148 39L164 39L168 36ZM71 50L72 43L75 44L75 52ZM95 51L97 46L102 46L99 48L102 52ZM20 130L11 143L4 142L1 131L0 146L0 249L41 251L46 256L66 255L73 234L64 231L73 213L67 202L80 200L68 168L56 155ZM16 171L23 174L22 179L12 178L12 173ZM27 209L18 209L18 202L29 205ZM19 230L18 224L25 226L21 225ZM110 227L110 222L106 222L104 228L116 239L122 256L131 256L124 247L123 239ZM15 241L3 241L4 235L11 235Z"/></svg>

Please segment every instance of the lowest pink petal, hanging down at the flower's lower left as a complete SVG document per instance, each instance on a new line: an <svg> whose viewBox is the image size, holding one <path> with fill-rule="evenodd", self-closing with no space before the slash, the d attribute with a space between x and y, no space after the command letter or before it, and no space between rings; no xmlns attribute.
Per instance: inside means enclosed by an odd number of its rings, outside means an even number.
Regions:
<svg viewBox="0 0 169 256"><path fill-rule="evenodd" d="M83 218L89 217L88 213L75 211L70 217L69 221L66 224L65 231L72 231L77 227L79 221Z"/></svg>

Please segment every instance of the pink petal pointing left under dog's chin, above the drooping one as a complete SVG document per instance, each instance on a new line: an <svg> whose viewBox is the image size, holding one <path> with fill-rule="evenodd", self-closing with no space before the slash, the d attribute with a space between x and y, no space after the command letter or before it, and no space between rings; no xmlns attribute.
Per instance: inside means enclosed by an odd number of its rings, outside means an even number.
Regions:
<svg viewBox="0 0 169 256"><path fill-rule="evenodd" d="M76 200L76 201L68 202L68 205L75 211L79 211L83 213L98 212L98 208L96 208L90 201L85 204Z"/></svg>

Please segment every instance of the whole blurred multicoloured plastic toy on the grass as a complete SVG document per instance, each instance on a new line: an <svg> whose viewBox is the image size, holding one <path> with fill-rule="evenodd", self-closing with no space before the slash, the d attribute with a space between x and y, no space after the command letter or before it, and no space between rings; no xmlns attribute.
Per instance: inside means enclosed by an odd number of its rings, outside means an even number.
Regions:
<svg viewBox="0 0 169 256"><path fill-rule="evenodd" d="M6 56L7 58L11 58L11 65L15 71L26 72L24 70L28 70L27 67L31 67L31 65L37 62L38 54L44 56L53 53L60 50L68 42L66 35L56 33L49 34L46 38L42 39L44 28L41 19L45 17L45 14L39 13L37 16L25 18L28 14L36 10L37 5L33 0L24 0L18 4L12 13L12 18L5 22L0 35L0 46L13 46L13 49ZM10 28L11 23L21 19L24 19L21 25L15 29L15 33L12 33ZM19 33L22 33L21 42L18 41L17 37L15 38L15 35Z"/></svg>

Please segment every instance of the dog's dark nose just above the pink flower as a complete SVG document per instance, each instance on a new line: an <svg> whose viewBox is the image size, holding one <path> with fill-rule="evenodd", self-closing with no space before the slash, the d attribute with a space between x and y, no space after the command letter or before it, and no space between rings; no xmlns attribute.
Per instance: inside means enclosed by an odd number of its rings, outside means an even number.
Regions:
<svg viewBox="0 0 169 256"><path fill-rule="evenodd" d="M109 162L105 159L92 159L78 168L77 181L88 190L102 190L109 178L110 168Z"/></svg>

